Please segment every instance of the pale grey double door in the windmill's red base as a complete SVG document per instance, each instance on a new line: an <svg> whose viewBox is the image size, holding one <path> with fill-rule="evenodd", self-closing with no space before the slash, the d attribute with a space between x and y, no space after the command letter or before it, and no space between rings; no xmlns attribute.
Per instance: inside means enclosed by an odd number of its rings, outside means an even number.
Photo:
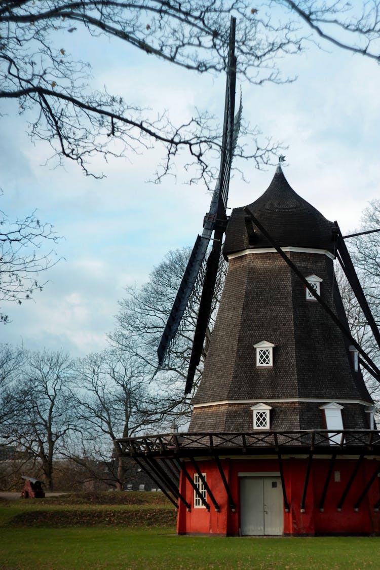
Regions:
<svg viewBox="0 0 380 570"><path fill-rule="evenodd" d="M240 478L242 535L282 535L284 500L280 477Z"/></svg>

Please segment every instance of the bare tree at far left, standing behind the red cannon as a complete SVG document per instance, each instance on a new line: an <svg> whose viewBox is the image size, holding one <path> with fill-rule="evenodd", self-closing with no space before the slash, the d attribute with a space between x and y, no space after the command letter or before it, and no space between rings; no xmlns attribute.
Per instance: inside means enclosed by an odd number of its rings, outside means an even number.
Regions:
<svg viewBox="0 0 380 570"><path fill-rule="evenodd" d="M76 429L70 385L73 365L61 352L27 355L13 397L22 404L11 437L40 465L48 490L53 488L53 460L70 431Z"/></svg>

